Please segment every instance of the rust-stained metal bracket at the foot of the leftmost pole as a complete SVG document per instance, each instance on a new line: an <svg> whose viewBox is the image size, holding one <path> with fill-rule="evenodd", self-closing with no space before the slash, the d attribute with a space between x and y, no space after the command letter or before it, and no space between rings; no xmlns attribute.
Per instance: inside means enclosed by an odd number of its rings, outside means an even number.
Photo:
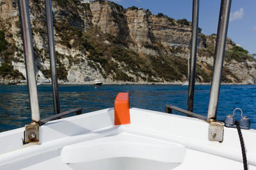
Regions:
<svg viewBox="0 0 256 170"><path fill-rule="evenodd" d="M23 144L39 142L39 124L32 122L25 125Z"/></svg>

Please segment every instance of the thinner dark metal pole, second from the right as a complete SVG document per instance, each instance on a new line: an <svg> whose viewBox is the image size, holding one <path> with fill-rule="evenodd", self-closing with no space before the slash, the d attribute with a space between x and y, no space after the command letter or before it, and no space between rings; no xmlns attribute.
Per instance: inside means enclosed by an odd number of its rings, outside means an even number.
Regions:
<svg viewBox="0 0 256 170"><path fill-rule="evenodd" d="M198 13L199 0L193 0L192 15L192 35L191 35L191 52L189 68L189 85L188 85L188 111L193 112L195 77L196 77L196 49L198 38Z"/></svg>

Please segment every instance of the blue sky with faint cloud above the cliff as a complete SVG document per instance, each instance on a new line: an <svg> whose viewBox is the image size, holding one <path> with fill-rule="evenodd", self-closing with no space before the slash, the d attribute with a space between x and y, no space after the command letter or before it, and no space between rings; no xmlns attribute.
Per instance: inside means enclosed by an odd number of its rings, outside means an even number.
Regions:
<svg viewBox="0 0 256 170"><path fill-rule="evenodd" d="M192 20L192 0L113 0L124 8L137 6L153 14L163 13L173 19ZM201 0L199 4L199 27L202 33L217 33L221 0ZM233 0L228 24L228 37L250 54L256 54L256 1Z"/></svg>

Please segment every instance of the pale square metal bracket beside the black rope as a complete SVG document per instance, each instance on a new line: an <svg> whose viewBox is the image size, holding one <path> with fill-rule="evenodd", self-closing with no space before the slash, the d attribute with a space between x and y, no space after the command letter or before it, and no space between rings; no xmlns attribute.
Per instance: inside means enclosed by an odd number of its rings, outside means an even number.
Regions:
<svg viewBox="0 0 256 170"><path fill-rule="evenodd" d="M208 139L209 141L223 141L224 123L220 121L210 121Z"/></svg>

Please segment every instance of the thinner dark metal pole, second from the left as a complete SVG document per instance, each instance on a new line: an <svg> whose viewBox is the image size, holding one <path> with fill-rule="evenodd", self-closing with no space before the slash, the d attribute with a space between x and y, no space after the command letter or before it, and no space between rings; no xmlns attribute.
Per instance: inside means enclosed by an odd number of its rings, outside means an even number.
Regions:
<svg viewBox="0 0 256 170"><path fill-rule="evenodd" d="M50 53L50 65L51 65L51 78L52 78L52 97L54 102L54 113L60 113L60 100L58 91L58 76L56 69L56 55L54 45L54 32L52 22L52 2L51 0L45 0L45 13L47 20L47 36L48 36L48 47Z"/></svg>

